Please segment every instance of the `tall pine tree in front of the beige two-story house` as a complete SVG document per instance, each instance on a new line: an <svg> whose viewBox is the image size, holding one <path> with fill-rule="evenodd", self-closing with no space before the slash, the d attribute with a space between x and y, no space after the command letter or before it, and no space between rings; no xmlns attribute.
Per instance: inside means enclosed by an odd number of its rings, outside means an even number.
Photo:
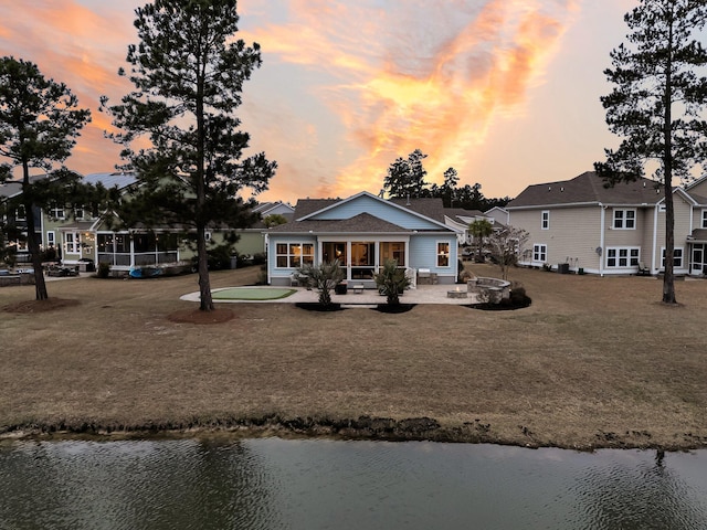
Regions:
<svg viewBox="0 0 707 530"><path fill-rule="evenodd" d="M652 176L665 193L665 275L663 301L676 304L673 179L692 178L707 159L707 53L696 40L707 19L705 0L641 0L624 20L629 45L611 52L604 73L614 85L601 98L609 129L622 137L606 160L594 165L608 183Z"/></svg>

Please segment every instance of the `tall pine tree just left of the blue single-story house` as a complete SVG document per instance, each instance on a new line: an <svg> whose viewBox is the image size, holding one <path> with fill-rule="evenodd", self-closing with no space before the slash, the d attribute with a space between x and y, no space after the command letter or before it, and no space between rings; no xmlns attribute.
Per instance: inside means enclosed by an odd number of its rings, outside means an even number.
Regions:
<svg viewBox="0 0 707 530"><path fill-rule="evenodd" d="M155 0L136 15L140 43L127 55L135 91L119 105L103 105L143 182L122 214L127 223L196 233L200 309L210 311L207 230L247 225L240 192L264 191L276 168L262 152L243 158L250 136L234 115L243 83L261 66L260 46L234 38L235 0ZM143 135L151 146L131 148Z"/></svg>

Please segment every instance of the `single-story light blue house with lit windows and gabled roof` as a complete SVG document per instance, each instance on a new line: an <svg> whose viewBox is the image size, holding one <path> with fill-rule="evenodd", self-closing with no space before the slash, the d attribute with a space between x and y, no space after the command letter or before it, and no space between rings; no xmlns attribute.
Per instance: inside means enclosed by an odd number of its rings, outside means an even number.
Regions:
<svg viewBox="0 0 707 530"><path fill-rule="evenodd" d="M291 285L304 265L339 259L346 280L374 288L373 275L395 259L413 283L457 278L460 229L445 224L441 199L386 200L367 191L347 199L300 199L293 221L264 231L267 278Z"/></svg>

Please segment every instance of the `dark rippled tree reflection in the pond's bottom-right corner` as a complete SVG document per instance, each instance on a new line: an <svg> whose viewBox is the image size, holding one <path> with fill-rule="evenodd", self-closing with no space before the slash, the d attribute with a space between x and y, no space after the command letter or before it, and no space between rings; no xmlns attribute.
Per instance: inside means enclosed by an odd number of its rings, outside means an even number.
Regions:
<svg viewBox="0 0 707 530"><path fill-rule="evenodd" d="M637 465L613 464L578 477L581 523L602 530L697 530L707 528L704 499L667 467L664 455ZM634 464L634 463L632 463Z"/></svg>

